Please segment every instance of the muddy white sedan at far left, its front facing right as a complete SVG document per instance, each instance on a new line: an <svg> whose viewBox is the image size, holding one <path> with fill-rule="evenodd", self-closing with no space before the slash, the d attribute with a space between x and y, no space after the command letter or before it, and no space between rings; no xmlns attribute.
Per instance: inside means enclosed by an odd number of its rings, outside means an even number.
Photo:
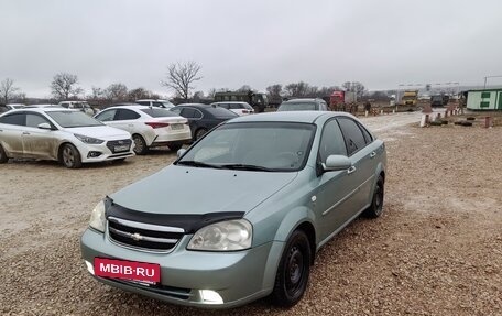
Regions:
<svg viewBox="0 0 502 316"><path fill-rule="evenodd" d="M30 108L0 116L0 163L29 157L59 161L77 168L83 163L133 156L131 134L64 108Z"/></svg>

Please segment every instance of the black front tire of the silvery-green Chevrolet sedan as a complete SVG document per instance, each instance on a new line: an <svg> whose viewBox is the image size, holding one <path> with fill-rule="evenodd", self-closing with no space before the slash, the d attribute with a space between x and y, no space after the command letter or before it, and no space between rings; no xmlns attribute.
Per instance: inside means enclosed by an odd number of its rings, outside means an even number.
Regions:
<svg viewBox="0 0 502 316"><path fill-rule="evenodd" d="M303 230L293 231L284 248L271 298L282 307L292 307L302 299L310 274L312 250Z"/></svg>

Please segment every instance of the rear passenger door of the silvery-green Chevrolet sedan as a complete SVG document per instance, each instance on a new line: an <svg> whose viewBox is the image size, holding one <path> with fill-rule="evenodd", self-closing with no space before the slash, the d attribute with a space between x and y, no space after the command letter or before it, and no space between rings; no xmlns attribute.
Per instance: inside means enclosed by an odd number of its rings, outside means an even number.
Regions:
<svg viewBox="0 0 502 316"><path fill-rule="evenodd" d="M374 177L375 152L368 145L360 124L349 118L339 117L338 123L347 146L347 152L352 161L353 181L358 185L354 193L354 213L368 204L368 196L371 190Z"/></svg>

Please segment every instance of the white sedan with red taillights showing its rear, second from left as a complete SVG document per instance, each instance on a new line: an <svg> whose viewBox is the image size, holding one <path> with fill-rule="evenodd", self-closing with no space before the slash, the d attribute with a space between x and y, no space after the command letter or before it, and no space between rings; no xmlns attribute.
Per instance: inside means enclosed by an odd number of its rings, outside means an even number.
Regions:
<svg viewBox="0 0 502 316"><path fill-rule="evenodd" d="M192 140L188 121L166 109L140 105L118 105L95 116L107 126L128 131L134 141L134 152L145 154L149 149L167 145L177 151Z"/></svg>

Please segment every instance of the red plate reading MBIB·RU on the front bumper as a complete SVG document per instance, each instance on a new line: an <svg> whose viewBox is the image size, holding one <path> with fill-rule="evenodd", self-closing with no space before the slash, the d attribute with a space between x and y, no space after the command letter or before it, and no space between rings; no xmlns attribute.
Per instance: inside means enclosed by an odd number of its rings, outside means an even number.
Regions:
<svg viewBox="0 0 502 316"><path fill-rule="evenodd" d="M155 263L95 258L96 276L155 284L161 282L161 265Z"/></svg>

